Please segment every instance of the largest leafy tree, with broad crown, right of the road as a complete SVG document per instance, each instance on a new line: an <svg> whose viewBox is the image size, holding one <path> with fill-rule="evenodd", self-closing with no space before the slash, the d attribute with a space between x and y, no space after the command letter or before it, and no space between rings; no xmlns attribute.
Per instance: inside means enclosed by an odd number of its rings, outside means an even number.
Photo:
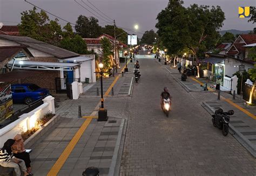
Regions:
<svg viewBox="0 0 256 176"><path fill-rule="evenodd" d="M220 6L193 4L188 8L182 6L183 1L170 0L167 8L158 14L158 35L164 45L173 53L189 48L198 64L199 53L217 44L223 26L224 12ZM199 75L198 75L199 76Z"/></svg>

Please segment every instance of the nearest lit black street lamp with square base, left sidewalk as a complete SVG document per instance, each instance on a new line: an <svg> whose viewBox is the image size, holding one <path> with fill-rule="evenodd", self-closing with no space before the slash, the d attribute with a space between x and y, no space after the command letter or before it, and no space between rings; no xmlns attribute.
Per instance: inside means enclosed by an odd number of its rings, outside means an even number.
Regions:
<svg viewBox="0 0 256 176"><path fill-rule="evenodd" d="M103 98L103 64L99 63L100 68L100 93L101 93L101 99L100 99L100 109L98 112L98 121L107 121L109 117L107 117L107 110L104 109L104 98Z"/></svg>

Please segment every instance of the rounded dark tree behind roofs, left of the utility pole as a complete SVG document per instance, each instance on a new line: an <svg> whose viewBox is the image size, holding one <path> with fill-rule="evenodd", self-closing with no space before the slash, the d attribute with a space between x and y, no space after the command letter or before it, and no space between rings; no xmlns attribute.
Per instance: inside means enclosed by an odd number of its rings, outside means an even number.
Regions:
<svg viewBox="0 0 256 176"><path fill-rule="evenodd" d="M102 34L102 27L98 24L98 19L80 15L77 19L75 29L77 34L83 38L97 38Z"/></svg>

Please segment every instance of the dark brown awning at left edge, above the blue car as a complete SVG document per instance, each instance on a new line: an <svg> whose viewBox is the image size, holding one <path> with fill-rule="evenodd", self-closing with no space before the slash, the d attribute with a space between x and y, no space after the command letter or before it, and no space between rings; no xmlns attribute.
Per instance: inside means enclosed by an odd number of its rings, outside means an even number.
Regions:
<svg viewBox="0 0 256 176"><path fill-rule="evenodd" d="M0 74L0 82L12 82L18 79L36 76L38 74L42 74L42 72L16 70L16 71Z"/></svg>

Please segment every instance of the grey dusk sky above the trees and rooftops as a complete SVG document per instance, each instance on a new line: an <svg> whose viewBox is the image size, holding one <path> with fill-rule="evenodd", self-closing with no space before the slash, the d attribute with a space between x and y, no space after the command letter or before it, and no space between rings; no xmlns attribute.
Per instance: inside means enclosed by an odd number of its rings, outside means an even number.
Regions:
<svg viewBox="0 0 256 176"><path fill-rule="evenodd" d="M99 16L95 11L88 8L81 0L76 0L84 5L85 8L95 13L92 15L89 11L79 6L74 0L28 0L29 2L41 7L44 10L57 15L71 23L76 23L79 15ZM167 6L169 0L83 0L86 4L90 1L100 11L111 19L116 20L117 26L127 29L134 29L134 25L138 24L139 29L136 32L142 37L142 34L147 30L155 30L157 23L157 14ZM184 6L190 4L199 5L219 5L225 12L224 26L221 30L252 30L255 24L248 23L248 18L238 18L239 6L256 6L256 0L184 0ZM26 3L24 0L0 0L0 22L4 25L16 25L21 21L21 12L32 9L33 6ZM98 10L96 10L100 13ZM55 17L49 15L51 19ZM104 16L104 15L103 15ZM97 17L96 17L97 18ZM99 19L99 18L98 18ZM103 18L104 19L104 18ZM109 24L106 19L99 19L99 25L105 26ZM107 23L108 22L108 23ZM59 20L60 24L66 24L63 20ZM129 32L129 31L127 31Z"/></svg>

